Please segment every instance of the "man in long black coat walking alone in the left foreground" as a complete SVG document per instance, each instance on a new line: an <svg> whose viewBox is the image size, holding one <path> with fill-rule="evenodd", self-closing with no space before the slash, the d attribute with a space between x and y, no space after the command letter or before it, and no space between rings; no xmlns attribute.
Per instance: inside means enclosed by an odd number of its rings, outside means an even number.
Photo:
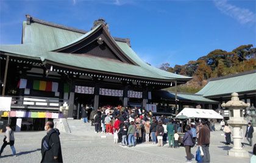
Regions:
<svg viewBox="0 0 256 163"><path fill-rule="evenodd" d="M46 123L44 130L47 134L41 142L41 162L63 162L59 130L54 128L54 123L51 121Z"/></svg>

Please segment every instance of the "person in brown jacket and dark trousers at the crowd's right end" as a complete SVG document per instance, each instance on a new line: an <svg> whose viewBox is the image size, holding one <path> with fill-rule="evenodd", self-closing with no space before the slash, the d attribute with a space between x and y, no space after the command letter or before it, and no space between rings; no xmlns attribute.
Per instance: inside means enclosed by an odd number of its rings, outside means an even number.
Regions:
<svg viewBox="0 0 256 163"><path fill-rule="evenodd" d="M206 122L202 121L202 128L199 130L198 145L201 145L204 157L202 162L210 162L210 129L207 127Z"/></svg>

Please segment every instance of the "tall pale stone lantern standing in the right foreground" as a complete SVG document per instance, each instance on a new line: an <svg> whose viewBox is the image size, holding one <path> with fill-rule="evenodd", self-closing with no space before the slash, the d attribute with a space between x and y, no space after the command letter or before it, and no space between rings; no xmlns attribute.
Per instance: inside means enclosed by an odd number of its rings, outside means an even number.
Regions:
<svg viewBox="0 0 256 163"><path fill-rule="evenodd" d="M231 100L221 105L222 107L229 108L229 120L227 120L227 123L233 128L233 148L228 151L228 155L233 157L249 157L247 151L241 147L243 137L240 134L240 130L247 124L243 117L243 108L250 106L250 103L240 101L236 92L233 92L231 95Z"/></svg>

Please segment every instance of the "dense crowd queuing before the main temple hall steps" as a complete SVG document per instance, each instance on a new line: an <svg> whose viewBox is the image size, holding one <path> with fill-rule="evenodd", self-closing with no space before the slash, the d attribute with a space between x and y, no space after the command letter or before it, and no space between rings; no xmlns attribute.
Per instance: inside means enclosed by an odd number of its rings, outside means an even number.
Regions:
<svg viewBox="0 0 256 163"><path fill-rule="evenodd" d="M167 116L155 117L151 111L144 108L121 106L103 106L92 111L90 117L93 117L90 119L94 124L95 133L113 134L115 144L134 147L146 142L163 147L168 143L169 148L179 148L183 145L188 162L192 158L191 147L197 144L202 147L205 162L210 161L210 130L214 130L210 122L177 120Z"/></svg>

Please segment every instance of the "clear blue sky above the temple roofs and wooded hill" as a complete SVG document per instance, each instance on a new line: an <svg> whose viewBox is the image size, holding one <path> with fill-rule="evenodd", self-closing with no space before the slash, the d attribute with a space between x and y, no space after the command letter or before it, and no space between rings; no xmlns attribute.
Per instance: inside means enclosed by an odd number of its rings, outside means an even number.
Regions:
<svg viewBox="0 0 256 163"><path fill-rule="evenodd" d="M130 38L132 48L154 66L185 64L214 49L256 44L256 1L2 1L0 44L20 44L30 14L90 30L105 18L113 36Z"/></svg>

